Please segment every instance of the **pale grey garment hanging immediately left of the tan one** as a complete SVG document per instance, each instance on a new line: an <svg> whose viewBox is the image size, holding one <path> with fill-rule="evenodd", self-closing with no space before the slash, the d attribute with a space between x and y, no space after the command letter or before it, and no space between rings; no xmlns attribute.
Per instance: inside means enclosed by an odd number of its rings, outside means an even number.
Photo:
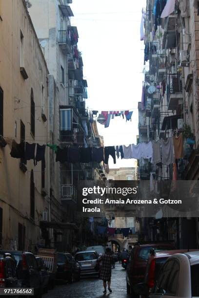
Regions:
<svg viewBox="0 0 199 298"><path fill-rule="evenodd" d="M171 165L174 162L174 146L173 138L168 138L167 141L161 140L161 154L162 154L162 164Z"/></svg>

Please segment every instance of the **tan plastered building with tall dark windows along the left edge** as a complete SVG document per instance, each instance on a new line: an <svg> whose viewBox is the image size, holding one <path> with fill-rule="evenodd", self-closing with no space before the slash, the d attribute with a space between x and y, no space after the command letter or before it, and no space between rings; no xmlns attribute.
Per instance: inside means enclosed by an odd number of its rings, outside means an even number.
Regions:
<svg viewBox="0 0 199 298"><path fill-rule="evenodd" d="M49 150L35 166L24 149L49 142L48 69L24 0L0 1L0 36L0 246L33 250L45 244Z"/></svg>

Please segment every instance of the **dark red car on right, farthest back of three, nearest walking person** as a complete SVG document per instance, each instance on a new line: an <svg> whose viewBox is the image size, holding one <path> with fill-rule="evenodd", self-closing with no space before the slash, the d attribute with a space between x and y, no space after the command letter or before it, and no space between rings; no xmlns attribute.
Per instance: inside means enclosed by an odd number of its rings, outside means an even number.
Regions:
<svg viewBox="0 0 199 298"><path fill-rule="evenodd" d="M145 244L136 244L130 254L126 268L126 289L127 293L136 296L134 286L144 281L146 265L150 251L173 250L175 246L168 242L153 242Z"/></svg>

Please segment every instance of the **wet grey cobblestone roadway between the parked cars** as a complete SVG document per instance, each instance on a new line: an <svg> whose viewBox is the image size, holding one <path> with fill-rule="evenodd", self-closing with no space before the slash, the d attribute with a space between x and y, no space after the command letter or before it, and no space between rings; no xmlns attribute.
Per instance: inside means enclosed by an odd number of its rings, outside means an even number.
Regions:
<svg viewBox="0 0 199 298"><path fill-rule="evenodd" d="M43 295L43 298L100 298L110 296L111 298L127 298L126 294L126 271L119 262L112 270L111 289L113 293L103 294L102 280L98 278L83 278L72 284L57 285L54 290Z"/></svg>

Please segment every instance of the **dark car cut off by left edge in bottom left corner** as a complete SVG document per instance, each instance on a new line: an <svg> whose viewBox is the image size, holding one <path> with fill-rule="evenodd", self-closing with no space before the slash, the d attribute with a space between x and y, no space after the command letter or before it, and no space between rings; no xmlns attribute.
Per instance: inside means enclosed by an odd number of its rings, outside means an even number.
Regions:
<svg viewBox="0 0 199 298"><path fill-rule="evenodd" d="M0 253L0 288L20 288L15 261Z"/></svg>

